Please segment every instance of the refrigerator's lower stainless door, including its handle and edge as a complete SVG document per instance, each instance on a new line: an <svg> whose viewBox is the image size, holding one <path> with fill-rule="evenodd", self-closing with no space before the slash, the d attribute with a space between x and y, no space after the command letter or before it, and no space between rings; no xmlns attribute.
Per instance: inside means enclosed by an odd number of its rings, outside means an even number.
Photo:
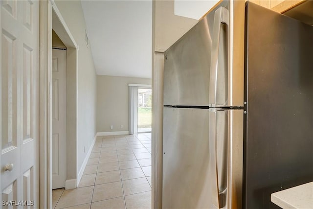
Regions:
<svg viewBox="0 0 313 209"><path fill-rule="evenodd" d="M240 208L242 139L242 110L164 108L163 208Z"/></svg>

